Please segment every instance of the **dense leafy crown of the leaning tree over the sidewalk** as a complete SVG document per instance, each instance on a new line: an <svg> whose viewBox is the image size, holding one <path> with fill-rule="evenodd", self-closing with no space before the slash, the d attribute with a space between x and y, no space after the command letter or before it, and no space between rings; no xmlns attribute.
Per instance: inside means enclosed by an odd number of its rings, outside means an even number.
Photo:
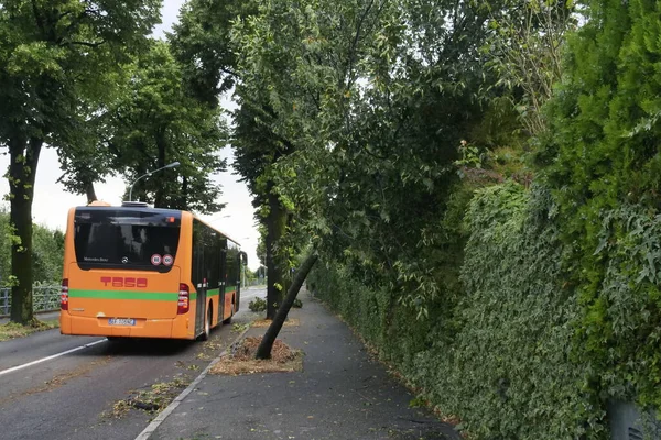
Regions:
<svg viewBox="0 0 661 440"><path fill-rule="evenodd" d="M267 90L272 138L293 145L275 164L281 199L421 312L440 292L430 244L448 242L451 164L484 113L487 18L472 2L271 1L235 25L239 92Z"/></svg>

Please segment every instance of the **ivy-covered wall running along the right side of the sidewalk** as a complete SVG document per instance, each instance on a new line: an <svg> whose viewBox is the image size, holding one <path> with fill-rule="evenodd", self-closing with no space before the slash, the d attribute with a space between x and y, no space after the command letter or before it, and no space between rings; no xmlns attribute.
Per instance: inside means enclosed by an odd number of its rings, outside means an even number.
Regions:
<svg viewBox="0 0 661 440"><path fill-rule="evenodd" d="M576 252L548 189L480 189L465 219L459 299L438 296L427 319L338 262L308 284L472 438L607 439L610 399L659 408L659 218L604 212L598 314L572 282Z"/></svg>

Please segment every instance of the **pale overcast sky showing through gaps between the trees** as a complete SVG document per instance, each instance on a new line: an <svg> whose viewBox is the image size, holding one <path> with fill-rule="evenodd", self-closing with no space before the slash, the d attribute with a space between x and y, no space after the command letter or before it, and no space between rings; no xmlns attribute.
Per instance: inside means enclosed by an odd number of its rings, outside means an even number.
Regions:
<svg viewBox="0 0 661 440"><path fill-rule="evenodd" d="M176 22L178 10L183 3L183 0L164 1L162 9L163 23L156 26L154 35L163 36L164 32L172 29L172 24ZM0 156L0 169L7 169L9 154L7 153L7 148L1 148L0 152L2 154ZM227 157L228 163L231 164L231 148L225 148L223 156ZM237 182L239 176L232 173L234 169L228 167L228 172L221 173L214 178L223 187L220 202L226 204L225 209L221 212L203 216L202 218L238 241L242 250L248 254L249 267L256 270L259 267L260 262L256 254L258 232L251 199L246 185ZM59 169L59 162L55 150L43 150L36 168L32 217L36 223L64 231L68 208L85 205L86 197L84 195L66 193L64 186L56 183L61 175L62 170ZM99 199L112 205L120 205L126 185L121 178L115 177L108 179L105 184L95 184L95 189ZM0 191L2 194L9 193L7 178L1 179ZM9 202L4 202L4 205L9 208Z"/></svg>

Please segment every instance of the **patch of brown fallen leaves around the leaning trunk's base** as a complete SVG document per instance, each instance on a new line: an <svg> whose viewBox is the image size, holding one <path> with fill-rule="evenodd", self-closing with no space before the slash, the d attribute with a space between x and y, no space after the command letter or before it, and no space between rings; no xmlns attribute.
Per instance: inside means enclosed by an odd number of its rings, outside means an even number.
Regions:
<svg viewBox="0 0 661 440"><path fill-rule="evenodd" d="M209 370L209 373L236 376L256 373L289 373L303 370L303 352L293 350L279 339L273 343L271 359L254 359L260 342L260 338L243 339L232 352L221 358Z"/></svg>

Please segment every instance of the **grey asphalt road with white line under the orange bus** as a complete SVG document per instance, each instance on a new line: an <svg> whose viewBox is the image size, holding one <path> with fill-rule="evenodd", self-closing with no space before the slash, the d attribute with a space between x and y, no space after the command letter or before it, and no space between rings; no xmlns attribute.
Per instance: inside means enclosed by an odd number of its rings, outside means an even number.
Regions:
<svg viewBox="0 0 661 440"><path fill-rule="evenodd" d="M257 318L256 296L264 289L242 292L234 323ZM223 326L204 343L109 342L54 329L0 342L0 439L134 439L154 417L136 406L176 396L237 336Z"/></svg>

